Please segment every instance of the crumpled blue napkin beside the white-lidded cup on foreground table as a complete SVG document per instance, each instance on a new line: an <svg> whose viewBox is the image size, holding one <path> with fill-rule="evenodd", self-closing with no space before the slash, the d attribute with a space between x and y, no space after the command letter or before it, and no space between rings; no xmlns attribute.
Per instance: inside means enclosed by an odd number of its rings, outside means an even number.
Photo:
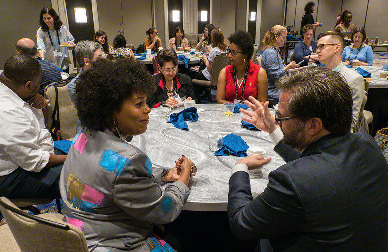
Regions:
<svg viewBox="0 0 388 252"><path fill-rule="evenodd" d="M222 148L214 154L217 156L234 155L238 157L246 157L246 151L248 148L249 146L240 136L231 133L223 138Z"/></svg>

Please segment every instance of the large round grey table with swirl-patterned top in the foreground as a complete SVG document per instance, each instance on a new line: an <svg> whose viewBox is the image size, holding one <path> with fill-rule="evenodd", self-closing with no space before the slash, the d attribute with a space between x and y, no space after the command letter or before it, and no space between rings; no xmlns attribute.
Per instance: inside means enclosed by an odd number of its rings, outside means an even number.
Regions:
<svg viewBox="0 0 388 252"><path fill-rule="evenodd" d="M262 174L250 174L253 197L257 197L267 187L268 174L285 164L284 160L273 150L274 145L268 134L251 131L241 126L242 113L232 117L223 116L223 104L197 104L198 121L187 121L189 130L180 130L162 117L160 108L150 113L148 129L144 134L134 136L131 141L148 155L153 167L172 168L181 155L191 159L197 166L197 174L190 181L191 194L184 210L191 211L227 211L229 178L236 156L216 156L209 151L208 135L234 133L241 136L249 146L262 146L270 163L262 168ZM172 112L180 112L176 108Z"/></svg>

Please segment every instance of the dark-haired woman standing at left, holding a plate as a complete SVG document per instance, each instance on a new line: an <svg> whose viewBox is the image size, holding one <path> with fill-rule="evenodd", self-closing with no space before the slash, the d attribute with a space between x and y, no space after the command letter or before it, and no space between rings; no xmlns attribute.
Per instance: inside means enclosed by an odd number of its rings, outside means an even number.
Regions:
<svg viewBox="0 0 388 252"><path fill-rule="evenodd" d="M52 62L63 72L69 73L69 53L71 47L59 47L63 43L74 43L74 38L55 10L44 7L39 15L40 28L36 32L38 54L42 59Z"/></svg>

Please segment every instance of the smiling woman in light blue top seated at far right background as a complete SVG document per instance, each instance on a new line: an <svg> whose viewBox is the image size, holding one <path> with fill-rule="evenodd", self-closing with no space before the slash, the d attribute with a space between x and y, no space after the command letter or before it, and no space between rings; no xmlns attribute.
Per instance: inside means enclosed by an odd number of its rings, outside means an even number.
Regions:
<svg viewBox="0 0 388 252"><path fill-rule="evenodd" d="M364 43L366 39L365 29L363 26L354 28L351 35L354 44L345 47L342 52L341 60L344 65L350 65L350 60L358 59L358 65L372 66L373 51L372 47Z"/></svg>

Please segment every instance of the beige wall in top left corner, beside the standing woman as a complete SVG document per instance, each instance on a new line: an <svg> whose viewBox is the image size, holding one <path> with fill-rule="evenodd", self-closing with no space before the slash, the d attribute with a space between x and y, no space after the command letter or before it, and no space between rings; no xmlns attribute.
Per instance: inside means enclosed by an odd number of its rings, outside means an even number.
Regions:
<svg viewBox="0 0 388 252"><path fill-rule="evenodd" d="M36 43L40 11L45 6L51 6L51 1L2 1L1 6L0 69L3 69L6 60L16 54L15 43L19 39L27 37Z"/></svg>

